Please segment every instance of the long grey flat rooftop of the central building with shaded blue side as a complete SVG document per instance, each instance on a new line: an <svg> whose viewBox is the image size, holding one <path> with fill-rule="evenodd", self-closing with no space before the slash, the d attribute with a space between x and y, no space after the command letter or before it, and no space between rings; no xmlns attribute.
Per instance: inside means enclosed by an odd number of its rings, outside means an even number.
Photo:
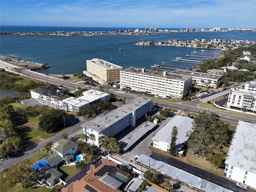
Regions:
<svg viewBox="0 0 256 192"><path fill-rule="evenodd" d="M96 118L81 124L81 126L90 127L93 130L98 132L103 131L108 128L114 122L119 121L128 114L134 112L144 104L151 102L152 99L136 96L133 99L127 100L123 106L116 108L115 110L110 111L107 114L100 114Z"/></svg>

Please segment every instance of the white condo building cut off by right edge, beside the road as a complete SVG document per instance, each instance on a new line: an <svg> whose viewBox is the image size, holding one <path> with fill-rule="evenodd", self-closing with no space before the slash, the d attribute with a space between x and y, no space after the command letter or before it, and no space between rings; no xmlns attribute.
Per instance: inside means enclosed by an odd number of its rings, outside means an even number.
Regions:
<svg viewBox="0 0 256 192"><path fill-rule="evenodd" d="M227 107L256 113L256 81L247 81L242 88L231 88Z"/></svg>

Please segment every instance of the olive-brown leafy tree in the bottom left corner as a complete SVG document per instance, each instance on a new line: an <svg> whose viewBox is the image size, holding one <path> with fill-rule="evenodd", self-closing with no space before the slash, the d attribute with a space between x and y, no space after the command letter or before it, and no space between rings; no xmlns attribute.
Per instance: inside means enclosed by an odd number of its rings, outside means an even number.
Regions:
<svg viewBox="0 0 256 192"><path fill-rule="evenodd" d="M32 163L29 160L24 160L7 168L4 181L9 187L13 187L18 183L22 187L29 188L37 181L38 173L32 170Z"/></svg>

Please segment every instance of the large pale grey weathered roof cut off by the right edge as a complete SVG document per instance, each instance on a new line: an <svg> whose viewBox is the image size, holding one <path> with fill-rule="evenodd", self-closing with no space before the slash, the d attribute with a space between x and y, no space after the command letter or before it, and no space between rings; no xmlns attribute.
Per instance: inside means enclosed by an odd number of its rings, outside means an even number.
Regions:
<svg viewBox="0 0 256 192"><path fill-rule="evenodd" d="M225 164L256 174L256 124L238 121Z"/></svg>

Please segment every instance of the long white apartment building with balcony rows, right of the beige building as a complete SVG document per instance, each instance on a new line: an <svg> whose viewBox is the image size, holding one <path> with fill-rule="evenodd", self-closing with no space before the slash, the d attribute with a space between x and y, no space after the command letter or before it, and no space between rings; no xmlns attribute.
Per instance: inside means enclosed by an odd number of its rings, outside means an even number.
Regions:
<svg viewBox="0 0 256 192"><path fill-rule="evenodd" d="M183 98L192 85L192 76L159 72L145 68L126 68L120 71L120 87L130 87L160 97Z"/></svg>

